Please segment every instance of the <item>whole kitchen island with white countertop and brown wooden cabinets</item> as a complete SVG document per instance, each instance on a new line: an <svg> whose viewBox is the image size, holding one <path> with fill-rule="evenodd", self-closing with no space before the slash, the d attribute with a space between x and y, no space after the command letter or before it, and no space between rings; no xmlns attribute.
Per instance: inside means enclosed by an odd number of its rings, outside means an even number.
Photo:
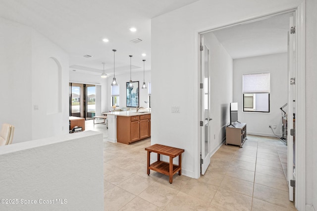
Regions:
<svg viewBox="0 0 317 211"><path fill-rule="evenodd" d="M106 114L109 142L131 144L151 136L151 112L129 110Z"/></svg>

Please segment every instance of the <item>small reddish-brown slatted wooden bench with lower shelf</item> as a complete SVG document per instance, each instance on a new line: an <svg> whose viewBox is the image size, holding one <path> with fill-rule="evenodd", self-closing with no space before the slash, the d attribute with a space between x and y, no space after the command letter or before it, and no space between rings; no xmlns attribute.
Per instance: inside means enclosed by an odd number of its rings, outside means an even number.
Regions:
<svg viewBox="0 0 317 211"><path fill-rule="evenodd" d="M147 173L150 175L150 169L159 173L169 176L169 183L173 182L173 175L178 172L178 175L182 174L182 153L185 152L183 149L174 147L168 147L160 144L155 144L145 148L148 151L148 163ZM157 153L158 160L150 164L150 154ZM169 156L169 163L160 160L160 155ZM173 158L178 158L178 165L173 164Z"/></svg>

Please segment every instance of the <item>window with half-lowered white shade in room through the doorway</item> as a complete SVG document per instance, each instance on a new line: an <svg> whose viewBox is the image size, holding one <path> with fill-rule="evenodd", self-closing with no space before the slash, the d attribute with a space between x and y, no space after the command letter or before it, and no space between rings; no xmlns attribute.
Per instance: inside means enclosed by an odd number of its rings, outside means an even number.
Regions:
<svg viewBox="0 0 317 211"><path fill-rule="evenodd" d="M269 112L270 73L243 75L243 111Z"/></svg>

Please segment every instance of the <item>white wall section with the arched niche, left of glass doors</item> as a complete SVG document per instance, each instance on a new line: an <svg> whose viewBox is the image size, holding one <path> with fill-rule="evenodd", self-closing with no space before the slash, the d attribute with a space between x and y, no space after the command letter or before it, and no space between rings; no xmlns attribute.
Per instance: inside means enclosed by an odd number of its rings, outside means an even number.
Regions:
<svg viewBox="0 0 317 211"><path fill-rule="evenodd" d="M50 113L50 106L47 105L48 93L55 92L48 86L50 74L45 69L49 59L53 58L56 65L60 67L58 79L60 94L57 96L60 101L60 108ZM69 57L60 47L52 41L32 29L32 106L37 105L38 110L32 110L32 139L41 139L69 132L69 88L68 88L68 67ZM55 80L57 81L57 80ZM56 99L57 100L57 99ZM15 130L14 132L18 132ZM15 141L14 141L15 142Z"/></svg>

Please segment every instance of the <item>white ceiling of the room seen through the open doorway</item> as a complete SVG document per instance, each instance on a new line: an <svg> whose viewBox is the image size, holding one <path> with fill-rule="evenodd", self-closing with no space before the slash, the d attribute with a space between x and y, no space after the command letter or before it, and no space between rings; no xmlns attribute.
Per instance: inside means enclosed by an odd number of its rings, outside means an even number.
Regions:
<svg viewBox="0 0 317 211"><path fill-rule="evenodd" d="M290 14L214 31L233 59L287 52Z"/></svg>

